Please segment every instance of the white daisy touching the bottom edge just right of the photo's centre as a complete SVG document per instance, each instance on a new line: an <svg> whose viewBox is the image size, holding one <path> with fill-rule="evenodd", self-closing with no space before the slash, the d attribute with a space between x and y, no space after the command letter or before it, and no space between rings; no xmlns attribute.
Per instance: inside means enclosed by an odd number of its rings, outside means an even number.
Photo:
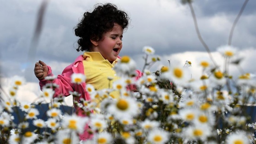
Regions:
<svg viewBox="0 0 256 144"><path fill-rule="evenodd" d="M151 144L165 144L168 139L169 133L159 128L150 130L149 135L147 136L147 140Z"/></svg>

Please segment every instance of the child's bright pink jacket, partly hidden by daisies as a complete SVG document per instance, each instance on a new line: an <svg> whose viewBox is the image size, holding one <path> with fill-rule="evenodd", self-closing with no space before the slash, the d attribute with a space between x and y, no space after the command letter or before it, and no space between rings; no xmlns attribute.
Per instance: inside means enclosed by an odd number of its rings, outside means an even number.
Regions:
<svg viewBox="0 0 256 144"><path fill-rule="evenodd" d="M87 91L85 91L85 86L86 86L85 82L81 83L80 85L71 83L71 75L73 73L85 74L83 60L84 60L83 55L78 56L75 59L74 63L67 66L63 70L62 74L58 75L57 79L53 80L53 83L59 85L59 88L55 89L55 93L54 93L53 97L57 97L59 95L69 96L70 95L69 91L77 91L81 94L81 96L75 97L75 99L73 97L73 99L75 101L79 101L80 98L84 98L86 101L91 100L89 93ZM52 74L51 67L50 66L47 66L47 67L49 69L48 75L52 76L53 74ZM139 70L136 70L136 72L138 74L136 77L136 80L137 80L137 79L139 79L139 77L142 76L142 73ZM39 80L39 81L40 81L39 85L42 90L43 86L48 83L48 80ZM133 87L131 86L130 89L133 90ZM75 109L79 116L85 116L85 114L83 114L83 111L80 108L75 107ZM82 136L82 137L80 136L80 139L88 139L89 137L91 137L91 136L88 137L88 133L84 133L82 135L84 135L84 136Z"/></svg>

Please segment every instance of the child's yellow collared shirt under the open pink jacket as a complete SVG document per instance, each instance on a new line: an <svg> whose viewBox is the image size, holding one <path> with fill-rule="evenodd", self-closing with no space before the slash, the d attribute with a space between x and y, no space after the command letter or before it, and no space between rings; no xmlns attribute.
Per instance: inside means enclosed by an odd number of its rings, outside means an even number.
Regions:
<svg viewBox="0 0 256 144"><path fill-rule="evenodd" d="M118 58L111 64L107 59L104 59L99 52L85 52L84 53L84 71L86 76L86 84L91 84L96 90L102 90L109 88L109 80L107 77L112 77L110 88L112 88L112 82L118 80L114 65L117 63ZM110 94L113 98L118 98L118 91L113 91ZM97 101L98 102L98 101Z"/></svg>

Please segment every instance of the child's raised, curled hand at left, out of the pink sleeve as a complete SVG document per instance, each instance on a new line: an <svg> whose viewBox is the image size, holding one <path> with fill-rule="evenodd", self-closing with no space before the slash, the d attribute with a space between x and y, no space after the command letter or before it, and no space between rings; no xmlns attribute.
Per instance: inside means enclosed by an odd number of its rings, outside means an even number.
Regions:
<svg viewBox="0 0 256 144"><path fill-rule="evenodd" d="M43 80L48 74L47 65L39 60L38 63L35 64L34 73L39 80Z"/></svg>

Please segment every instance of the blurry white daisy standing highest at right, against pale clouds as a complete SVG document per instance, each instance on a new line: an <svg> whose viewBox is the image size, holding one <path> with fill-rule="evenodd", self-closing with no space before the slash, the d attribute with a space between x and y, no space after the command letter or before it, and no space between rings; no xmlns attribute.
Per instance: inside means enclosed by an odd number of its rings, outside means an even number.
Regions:
<svg viewBox="0 0 256 144"><path fill-rule="evenodd" d="M237 54L237 48L229 45L220 46L217 48L217 51L225 58L231 58Z"/></svg>

